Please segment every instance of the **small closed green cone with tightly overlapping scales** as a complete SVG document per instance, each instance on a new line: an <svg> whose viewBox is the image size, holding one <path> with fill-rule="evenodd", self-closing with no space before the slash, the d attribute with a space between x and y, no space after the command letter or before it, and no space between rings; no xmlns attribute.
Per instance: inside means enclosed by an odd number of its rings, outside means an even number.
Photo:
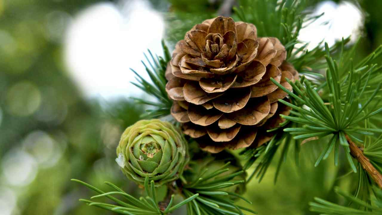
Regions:
<svg viewBox="0 0 382 215"><path fill-rule="evenodd" d="M141 120L121 136L116 159L130 180L143 185L146 176L155 186L175 181L189 161L188 144L169 122Z"/></svg>

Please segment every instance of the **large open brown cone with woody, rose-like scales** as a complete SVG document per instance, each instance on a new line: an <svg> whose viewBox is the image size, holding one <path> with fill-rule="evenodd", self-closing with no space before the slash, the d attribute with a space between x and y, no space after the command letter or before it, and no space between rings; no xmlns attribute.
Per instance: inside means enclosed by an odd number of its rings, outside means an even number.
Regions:
<svg viewBox="0 0 382 215"><path fill-rule="evenodd" d="M253 24L224 16L196 24L167 67L172 116L203 150L259 147L271 138L266 130L282 122L279 114L289 114L278 102L287 94L270 81L292 90L285 78L298 72L285 59L281 42L257 38Z"/></svg>

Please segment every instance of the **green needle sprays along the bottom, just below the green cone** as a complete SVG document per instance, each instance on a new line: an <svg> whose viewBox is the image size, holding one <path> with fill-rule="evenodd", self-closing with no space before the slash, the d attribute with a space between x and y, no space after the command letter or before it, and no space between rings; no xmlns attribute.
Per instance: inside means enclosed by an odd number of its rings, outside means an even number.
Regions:
<svg viewBox="0 0 382 215"><path fill-rule="evenodd" d="M187 211L189 215L244 215L242 210L256 214L253 210L240 205L236 205L234 198L240 198L252 204L249 200L246 200L239 194L235 192L229 192L224 190L227 187L232 187L237 184L244 183L244 180L233 180L236 176L243 174L243 171L236 171L228 175L224 175L225 172L229 171L227 166L230 165L230 162L227 162L225 165L221 166L218 169L214 169L210 173L206 173L207 169L203 169L196 177L196 180L185 182L180 182L181 195L184 197L184 200L180 203L174 204L175 195L172 194L170 201L167 203L165 208L160 209L159 201L157 200L157 194L155 191L154 181L151 181L149 184L149 178L146 177L144 181L144 189L146 191L146 197L140 197L139 199L134 198L133 196L127 194L114 184L110 182L105 182L108 186L112 187L116 191L112 192L103 192L100 189L97 189L90 184L87 184L83 181L77 179L72 179L72 181L78 182L96 192L99 195L92 196L91 199L99 197L107 197L108 199L113 200L118 205L112 205L102 202L94 202L91 200L80 199L81 202L85 202L89 206L100 207L105 210L110 210L120 214L127 215L145 215L145 214L158 214L166 215L182 205L187 205ZM176 186L176 185L175 185ZM173 189L173 188L170 188ZM120 195L124 197L124 200L119 200L114 197L114 195ZM229 197L229 198L227 198Z"/></svg>

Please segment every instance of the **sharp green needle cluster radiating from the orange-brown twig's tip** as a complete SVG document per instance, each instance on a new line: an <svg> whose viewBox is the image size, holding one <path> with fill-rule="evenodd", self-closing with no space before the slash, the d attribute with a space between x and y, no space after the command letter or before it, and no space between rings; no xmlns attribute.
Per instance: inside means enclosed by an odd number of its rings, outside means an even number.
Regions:
<svg viewBox="0 0 382 215"><path fill-rule="evenodd" d="M382 132L381 129L370 129L370 128L359 128L356 125L364 121L365 119L374 116L375 114L382 111L382 108L377 108L378 103L367 110L369 103L375 98L377 92L380 89L380 85L377 87L377 90L367 99L366 102L363 101L363 92L367 87L367 83L371 73L375 72L373 68L366 70L364 67L370 60L366 58L361 61L355 68L351 63L350 72L348 78L345 78L344 81L340 82L338 76L338 64L332 57L330 57L330 51L327 44L325 44L325 49L327 53L327 83L329 85L329 103L324 103L320 98L317 91L314 89L314 86L311 85L310 81L306 80L304 77L301 78L301 81L296 81L293 83L288 80L293 87L293 93L285 89L282 85L277 83L277 81L271 79L278 87L282 88L287 92L293 99L295 103L289 103L284 100L279 100L281 103L293 108L297 116L283 116L284 119L303 124L302 127L296 128L286 128L285 132L290 132L294 135L295 139L306 139L306 138L320 138L330 134L333 134L333 137L330 139L327 147L322 151L320 156L317 158L315 166L317 166L322 159L326 159L330 152L334 148L335 165L338 164L338 153L339 147L345 149L347 160L353 169L356 172L356 167L350 156L349 144L345 138L345 135L349 135L359 142L363 142L356 138L355 135L373 135L373 132ZM340 55L340 59L342 55ZM361 85L362 77L368 77L364 84ZM304 84L304 85L303 85ZM341 85L347 85L348 88L343 90ZM304 107L303 107L304 106ZM307 108L306 108L307 107Z"/></svg>

